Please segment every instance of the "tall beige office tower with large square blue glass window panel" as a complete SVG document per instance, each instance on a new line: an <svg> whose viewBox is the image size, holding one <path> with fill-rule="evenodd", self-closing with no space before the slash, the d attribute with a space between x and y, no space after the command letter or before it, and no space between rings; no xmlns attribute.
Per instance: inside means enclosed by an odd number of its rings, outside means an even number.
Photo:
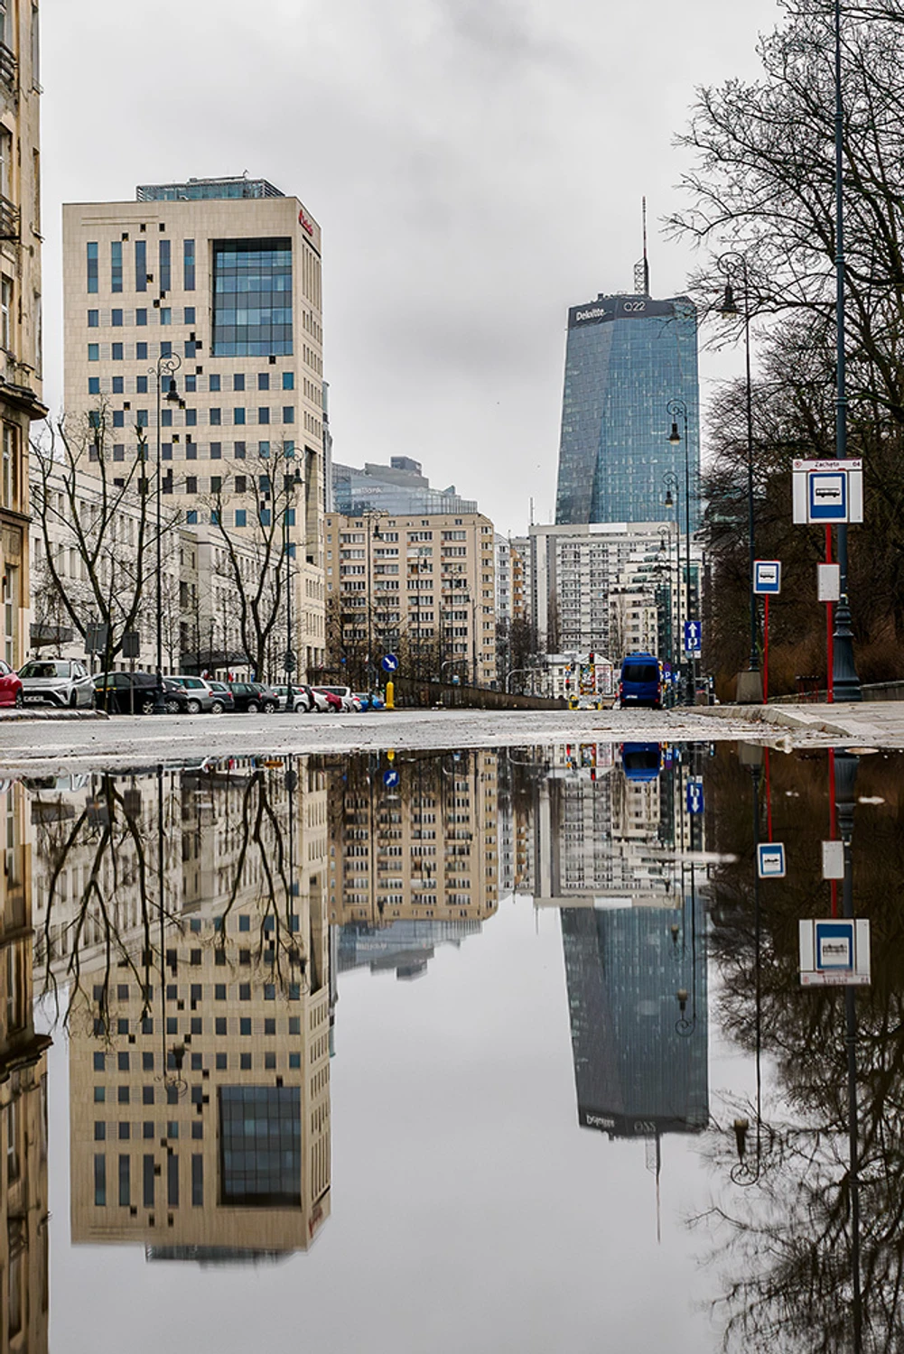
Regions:
<svg viewBox="0 0 904 1354"><path fill-rule="evenodd" d="M62 225L66 424L87 468L103 458L115 481L145 440L156 493L159 445L165 519L214 547L199 634L221 628L230 540L253 544L241 590L264 577L278 612L268 676L287 642L305 677L324 646L320 226L263 179L144 185L69 203ZM230 647L214 638L194 666L228 666Z"/></svg>

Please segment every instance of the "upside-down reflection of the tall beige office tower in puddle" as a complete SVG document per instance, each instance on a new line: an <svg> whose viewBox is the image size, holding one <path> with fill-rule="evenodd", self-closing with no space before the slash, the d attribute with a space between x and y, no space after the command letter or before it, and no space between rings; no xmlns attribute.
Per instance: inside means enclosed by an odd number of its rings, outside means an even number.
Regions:
<svg viewBox="0 0 904 1354"><path fill-rule="evenodd" d="M70 1021L73 1242L209 1263L305 1250L329 1216L323 773L167 781L163 941L157 783L137 785L150 926L112 967L94 949Z"/></svg>

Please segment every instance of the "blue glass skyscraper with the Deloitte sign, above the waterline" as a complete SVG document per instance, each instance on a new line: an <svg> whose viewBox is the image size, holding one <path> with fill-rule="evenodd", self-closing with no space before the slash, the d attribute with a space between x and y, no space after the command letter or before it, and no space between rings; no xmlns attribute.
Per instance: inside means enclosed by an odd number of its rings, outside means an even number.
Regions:
<svg viewBox="0 0 904 1354"><path fill-rule="evenodd" d="M697 309L686 297L598 297L568 313L556 523L663 521L667 471L679 482L682 441L668 436L670 401L687 408L690 521L699 525Z"/></svg>

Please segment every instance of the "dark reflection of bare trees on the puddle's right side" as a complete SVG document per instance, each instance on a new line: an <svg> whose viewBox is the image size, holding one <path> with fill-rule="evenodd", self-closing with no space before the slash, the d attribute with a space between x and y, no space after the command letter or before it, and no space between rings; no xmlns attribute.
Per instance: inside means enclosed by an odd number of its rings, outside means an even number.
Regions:
<svg viewBox="0 0 904 1354"><path fill-rule="evenodd" d="M736 862L714 879L713 953L722 1028L774 1067L762 1122L735 1106L736 1131L713 1136L707 1155L720 1181L697 1224L713 1233L725 1286L717 1304L726 1349L847 1354L904 1349L904 927L900 919L904 838L897 761L862 764L858 791L885 803L857 812L852 838L855 910L873 929L873 986L857 997L857 1177L848 1155L848 1056L844 997L804 991L798 919L827 915L821 841L829 835L825 758L771 758L774 837L787 844L785 880L760 886L762 951L755 945L751 776L722 756L713 768L720 806L717 846ZM760 806L763 819L764 804ZM731 1112L729 1112L731 1117ZM741 1122L739 1122L741 1120ZM743 1120L748 1128L744 1129ZM744 1154L739 1169L739 1151ZM739 1190L732 1183L748 1183ZM859 1190L857 1189L859 1186ZM852 1197L859 1193L859 1229ZM859 1240L862 1298L854 1301Z"/></svg>

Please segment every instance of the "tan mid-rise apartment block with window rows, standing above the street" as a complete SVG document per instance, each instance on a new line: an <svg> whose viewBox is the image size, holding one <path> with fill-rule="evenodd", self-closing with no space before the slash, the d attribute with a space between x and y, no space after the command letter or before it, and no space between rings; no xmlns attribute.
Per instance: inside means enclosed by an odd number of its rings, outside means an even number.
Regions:
<svg viewBox="0 0 904 1354"><path fill-rule="evenodd" d="M328 513L329 665L371 684L382 654L400 674L496 681L495 533L482 513Z"/></svg>

